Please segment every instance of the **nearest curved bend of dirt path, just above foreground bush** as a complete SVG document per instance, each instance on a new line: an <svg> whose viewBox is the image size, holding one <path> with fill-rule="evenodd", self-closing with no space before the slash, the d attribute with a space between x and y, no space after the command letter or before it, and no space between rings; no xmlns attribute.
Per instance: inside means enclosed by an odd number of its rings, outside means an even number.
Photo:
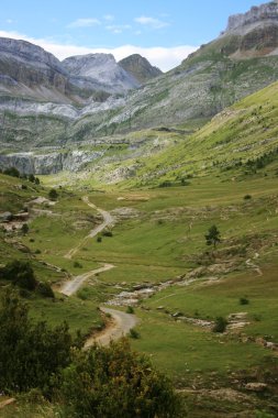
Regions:
<svg viewBox="0 0 278 418"><path fill-rule="evenodd" d="M113 321L101 333L89 338L85 343L85 349L90 348L94 343L108 345L110 341L119 340L121 337L126 336L138 323L138 318L135 315L105 307L101 307L100 309L102 312L111 315Z"/></svg>

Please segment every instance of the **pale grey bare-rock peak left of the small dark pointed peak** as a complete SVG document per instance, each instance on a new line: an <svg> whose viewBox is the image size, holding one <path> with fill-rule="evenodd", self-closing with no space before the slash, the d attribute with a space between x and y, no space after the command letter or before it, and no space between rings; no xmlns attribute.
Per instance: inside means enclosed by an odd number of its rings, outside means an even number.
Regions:
<svg viewBox="0 0 278 418"><path fill-rule="evenodd" d="M140 87L140 82L120 65L111 54L88 54L71 56L63 65L75 76L102 82L114 92L122 92Z"/></svg>

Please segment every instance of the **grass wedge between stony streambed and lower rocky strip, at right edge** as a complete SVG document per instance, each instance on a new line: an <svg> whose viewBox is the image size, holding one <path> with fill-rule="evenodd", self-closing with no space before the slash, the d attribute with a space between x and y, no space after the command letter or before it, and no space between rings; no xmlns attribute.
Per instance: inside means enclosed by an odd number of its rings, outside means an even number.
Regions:
<svg viewBox="0 0 278 418"><path fill-rule="evenodd" d="M251 324L244 332L253 336L269 334L278 342L277 331L277 265L263 265L263 276L254 272L232 274L216 283L205 284L199 279L189 287L175 286L148 299L144 305L156 309L176 312L187 317L214 320L216 317L229 317L230 314L247 312ZM247 305L240 299L246 297Z"/></svg>

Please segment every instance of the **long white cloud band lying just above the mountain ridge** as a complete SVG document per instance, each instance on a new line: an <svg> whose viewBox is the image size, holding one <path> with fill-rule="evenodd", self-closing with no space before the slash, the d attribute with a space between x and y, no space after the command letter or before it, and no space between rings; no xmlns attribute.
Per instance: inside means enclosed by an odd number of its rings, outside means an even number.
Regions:
<svg viewBox="0 0 278 418"><path fill-rule="evenodd" d="M132 54L140 54L147 58L152 65L167 72L181 63L189 54L197 50L197 46L180 45L173 47L141 47L135 45L122 45L114 48L90 48L69 44L57 44L47 40L33 38L18 32L0 31L0 36L23 40L42 46L59 59L65 59L73 55L105 53L113 54L116 61L125 58Z"/></svg>

